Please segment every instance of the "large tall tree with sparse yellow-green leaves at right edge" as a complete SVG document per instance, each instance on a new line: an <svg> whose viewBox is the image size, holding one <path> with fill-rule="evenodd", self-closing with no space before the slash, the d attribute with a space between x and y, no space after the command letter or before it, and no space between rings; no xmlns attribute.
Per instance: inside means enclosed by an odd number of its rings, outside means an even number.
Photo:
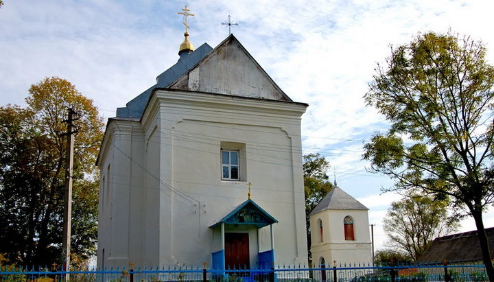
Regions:
<svg viewBox="0 0 494 282"><path fill-rule="evenodd" d="M419 34L391 49L364 96L390 121L364 145L370 170L395 179L391 189L449 198L475 220L494 281L482 211L494 198L494 68L482 43L457 34Z"/></svg>

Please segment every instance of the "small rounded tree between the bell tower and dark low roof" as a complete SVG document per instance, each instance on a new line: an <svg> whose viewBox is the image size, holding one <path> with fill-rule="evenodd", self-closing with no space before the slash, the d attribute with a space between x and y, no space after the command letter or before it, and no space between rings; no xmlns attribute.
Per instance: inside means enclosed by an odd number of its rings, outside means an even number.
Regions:
<svg viewBox="0 0 494 282"><path fill-rule="evenodd" d="M393 246L416 261L434 238L457 230L458 221L449 218L447 207L447 201L411 193L391 203L384 218L384 231Z"/></svg>

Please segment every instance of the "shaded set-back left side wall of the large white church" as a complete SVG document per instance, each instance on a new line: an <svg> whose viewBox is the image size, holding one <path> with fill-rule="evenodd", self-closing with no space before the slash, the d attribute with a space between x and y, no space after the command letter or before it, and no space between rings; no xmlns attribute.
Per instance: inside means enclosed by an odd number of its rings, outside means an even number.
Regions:
<svg viewBox="0 0 494 282"><path fill-rule="evenodd" d="M126 155L121 152L126 152ZM143 130L139 123L116 121L106 130L99 155L98 266L128 265L128 257L141 257ZM126 230L125 233L120 233ZM118 234L118 236L116 236ZM132 243L131 243L132 242Z"/></svg>

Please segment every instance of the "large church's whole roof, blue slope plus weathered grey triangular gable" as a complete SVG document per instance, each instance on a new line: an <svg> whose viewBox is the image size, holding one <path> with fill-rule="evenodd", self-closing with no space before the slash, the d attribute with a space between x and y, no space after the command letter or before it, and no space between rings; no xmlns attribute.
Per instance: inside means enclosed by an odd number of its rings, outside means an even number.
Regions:
<svg viewBox="0 0 494 282"><path fill-rule="evenodd" d="M177 89L293 102L231 34L215 49L207 43L181 56L151 86L123 108L117 118L140 118L155 89Z"/></svg>

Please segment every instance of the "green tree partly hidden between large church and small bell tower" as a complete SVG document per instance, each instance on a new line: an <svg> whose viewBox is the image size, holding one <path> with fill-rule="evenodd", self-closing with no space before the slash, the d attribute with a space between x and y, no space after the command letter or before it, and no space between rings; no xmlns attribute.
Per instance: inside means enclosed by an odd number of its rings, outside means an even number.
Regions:
<svg viewBox="0 0 494 282"><path fill-rule="evenodd" d="M320 154L307 154L303 156L304 191L305 191L305 223L307 230L307 255L311 261L311 231L309 213L333 188L328 181L327 169L329 162Z"/></svg>

